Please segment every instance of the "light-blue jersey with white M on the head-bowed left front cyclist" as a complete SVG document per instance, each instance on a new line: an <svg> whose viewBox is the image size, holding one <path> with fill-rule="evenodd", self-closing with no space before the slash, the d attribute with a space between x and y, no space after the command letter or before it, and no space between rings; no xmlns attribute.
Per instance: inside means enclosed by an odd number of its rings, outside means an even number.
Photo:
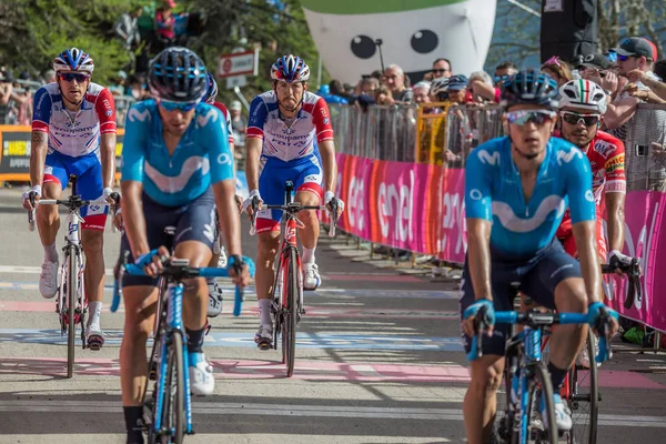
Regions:
<svg viewBox="0 0 666 444"><path fill-rule="evenodd" d="M165 206L182 206L211 184L234 179L224 115L206 103L196 105L172 155L164 144L155 101L132 105L125 121L122 162L122 181L142 182L145 194Z"/></svg>

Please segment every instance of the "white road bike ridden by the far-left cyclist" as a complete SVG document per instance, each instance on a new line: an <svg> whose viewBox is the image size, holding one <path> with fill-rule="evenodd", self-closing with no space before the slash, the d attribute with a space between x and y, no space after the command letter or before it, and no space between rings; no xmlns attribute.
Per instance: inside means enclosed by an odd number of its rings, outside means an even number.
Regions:
<svg viewBox="0 0 666 444"><path fill-rule="evenodd" d="M85 295L85 285L83 282L83 246L81 245L81 209L83 206L108 205L105 200L82 200L77 192L77 176L70 175L72 184L72 194L68 199L41 199L34 201L31 199L33 210L28 212L28 225L30 231L34 231L34 206L37 205L62 205L69 210L65 220L67 235L64 236L64 246L62 248L62 262L60 269L60 285L56 295L56 312L60 319L60 334L67 333L67 377L72 377L74 371L74 341L77 325L81 326L81 343L83 350L88 346L90 350L99 350L102 342L85 341L85 316L88 315L88 297ZM118 202L118 193L112 194L112 199ZM112 211L115 206L111 205Z"/></svg>

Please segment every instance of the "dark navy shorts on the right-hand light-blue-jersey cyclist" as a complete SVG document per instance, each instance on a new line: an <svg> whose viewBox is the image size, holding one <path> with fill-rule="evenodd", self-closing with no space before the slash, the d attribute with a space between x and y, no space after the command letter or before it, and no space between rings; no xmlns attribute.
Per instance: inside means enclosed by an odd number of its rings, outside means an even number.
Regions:
<svg viewBox="0 0 666 444"><path fill-rule="evenodd" d="M581 264L568 255L557 239L529 258L515 258L491 248L491 284L493 285L493 305L495 311L513 311L515 291L512 283L518 283L518 290L547 309L555 309L555 289L569 278L581 278ZM467 259L461 282L460 314L476 301L470 278ZM504 355L504 347L511 325L497 324L493 336L483 339L483 354ZM468 353L472 339L463 333L463 345Z"/></svg>

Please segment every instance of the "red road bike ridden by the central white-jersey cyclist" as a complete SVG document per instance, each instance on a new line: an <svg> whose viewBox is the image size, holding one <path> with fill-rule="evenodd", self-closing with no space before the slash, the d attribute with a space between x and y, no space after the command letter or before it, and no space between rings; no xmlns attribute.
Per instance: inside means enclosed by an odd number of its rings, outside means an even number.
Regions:
<svg viewBox="0 0 666 444"><path fill-rule="evenodd" d="M281 205L263 204L259 206L259 199L252 201L252 229L254 234L256 212L259 210L281 210L283 220L282 245L280 248L278 269L273 281L271 314L273 315L273 350L278 350L278 339L282 342L282 363L286 364L286 377L294 373L294 361L296 354L296 324L305 314L303 310L303 264L299 253L296 231L303 226L296 215L303 210L329 211L326 205L302 205L294 202L294 183L286 181L284 203ZM337 214L337 200L331 201L330 214ZM336 218L331 216L329 235L335 235ZM262 350L271 347L270 341L259 340L258 345Z"/></svg>

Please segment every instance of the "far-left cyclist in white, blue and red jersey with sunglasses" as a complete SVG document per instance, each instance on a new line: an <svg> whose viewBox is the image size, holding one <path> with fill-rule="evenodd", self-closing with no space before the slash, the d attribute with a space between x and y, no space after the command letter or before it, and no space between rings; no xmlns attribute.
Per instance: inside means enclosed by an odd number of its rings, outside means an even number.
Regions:
<svg viewBox="0 0 666 444"><path fill-rule="evenodd" d="M43 199L60 199L77 175L77 190L83 200L105 198L114 203L115 174L115 103L111 92L90 79L94 63L89 54L71 48L53 60L56 82L34 93L30 183L23 194L23 206ZM100 326L104 289L103 234L108 205L81 209L81 242L85 253L84 285L90 316L85 341L91 350L104 343ZM37 224L44 249L44 262L39 276L39 291L50 299L58 293L58 250L56 236L60 218L56 205L37 209Z"/></svg>

